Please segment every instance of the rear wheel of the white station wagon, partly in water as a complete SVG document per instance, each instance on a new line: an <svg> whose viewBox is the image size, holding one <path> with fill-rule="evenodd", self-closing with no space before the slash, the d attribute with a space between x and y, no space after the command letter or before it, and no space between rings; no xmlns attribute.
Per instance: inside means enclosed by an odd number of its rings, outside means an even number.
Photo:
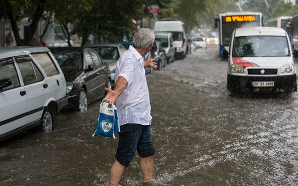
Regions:
<svg viewBox="0 0 298 186"><path fill-rule="evenodd" d="M54 130L54 115L50 108L44 108L41 116L41 123L39 125L39 131L49 133Z"/></svg>

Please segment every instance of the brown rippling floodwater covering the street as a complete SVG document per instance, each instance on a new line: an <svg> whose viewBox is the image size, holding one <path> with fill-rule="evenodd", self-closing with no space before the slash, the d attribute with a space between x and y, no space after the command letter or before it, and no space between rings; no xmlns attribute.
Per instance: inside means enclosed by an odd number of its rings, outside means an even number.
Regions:
<svg viewBox="0 0 298 186"><path fill-rule="evenodd" d="M226 71L216 45L147 74L155 185L298 184L297 92L234 96ZM0 184L105 185L118 138L91 137L99 104L58 114L53 133L1 142ZM141 183L138 159L122 186Z"/></svg>

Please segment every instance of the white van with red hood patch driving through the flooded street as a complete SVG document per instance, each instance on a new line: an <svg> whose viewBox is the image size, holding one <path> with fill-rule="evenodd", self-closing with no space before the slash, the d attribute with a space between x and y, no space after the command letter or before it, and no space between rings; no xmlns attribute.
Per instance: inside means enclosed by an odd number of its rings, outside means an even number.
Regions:
<svg viewBox="0 0 298 186"><path fill-rule="evenodd" d="M231 36L228 89L232 92L297 91L290 41L281 28L237 28Z"/></svg>

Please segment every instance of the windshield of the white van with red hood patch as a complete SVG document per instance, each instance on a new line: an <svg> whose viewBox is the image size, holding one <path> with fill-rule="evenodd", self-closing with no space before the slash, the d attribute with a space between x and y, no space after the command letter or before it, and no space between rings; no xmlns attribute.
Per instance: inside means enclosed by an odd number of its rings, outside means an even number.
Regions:
<svg viewBox="0 0 298 186"><path fill-rule="evenodd" d="M233 57L289 56L287 39L284 36L235 37Z"/></svg>

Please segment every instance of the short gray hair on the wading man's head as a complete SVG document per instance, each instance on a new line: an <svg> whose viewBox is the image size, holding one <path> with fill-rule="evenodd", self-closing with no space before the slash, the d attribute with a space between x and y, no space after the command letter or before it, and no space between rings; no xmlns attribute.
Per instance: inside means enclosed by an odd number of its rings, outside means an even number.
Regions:
<svg viewBox="0 0 298 186"><path fill-rule="evenodd" d="M132 44L139 49L146 49L154 43L155 34L152 29L141 28L133 35Z"/></svg>

